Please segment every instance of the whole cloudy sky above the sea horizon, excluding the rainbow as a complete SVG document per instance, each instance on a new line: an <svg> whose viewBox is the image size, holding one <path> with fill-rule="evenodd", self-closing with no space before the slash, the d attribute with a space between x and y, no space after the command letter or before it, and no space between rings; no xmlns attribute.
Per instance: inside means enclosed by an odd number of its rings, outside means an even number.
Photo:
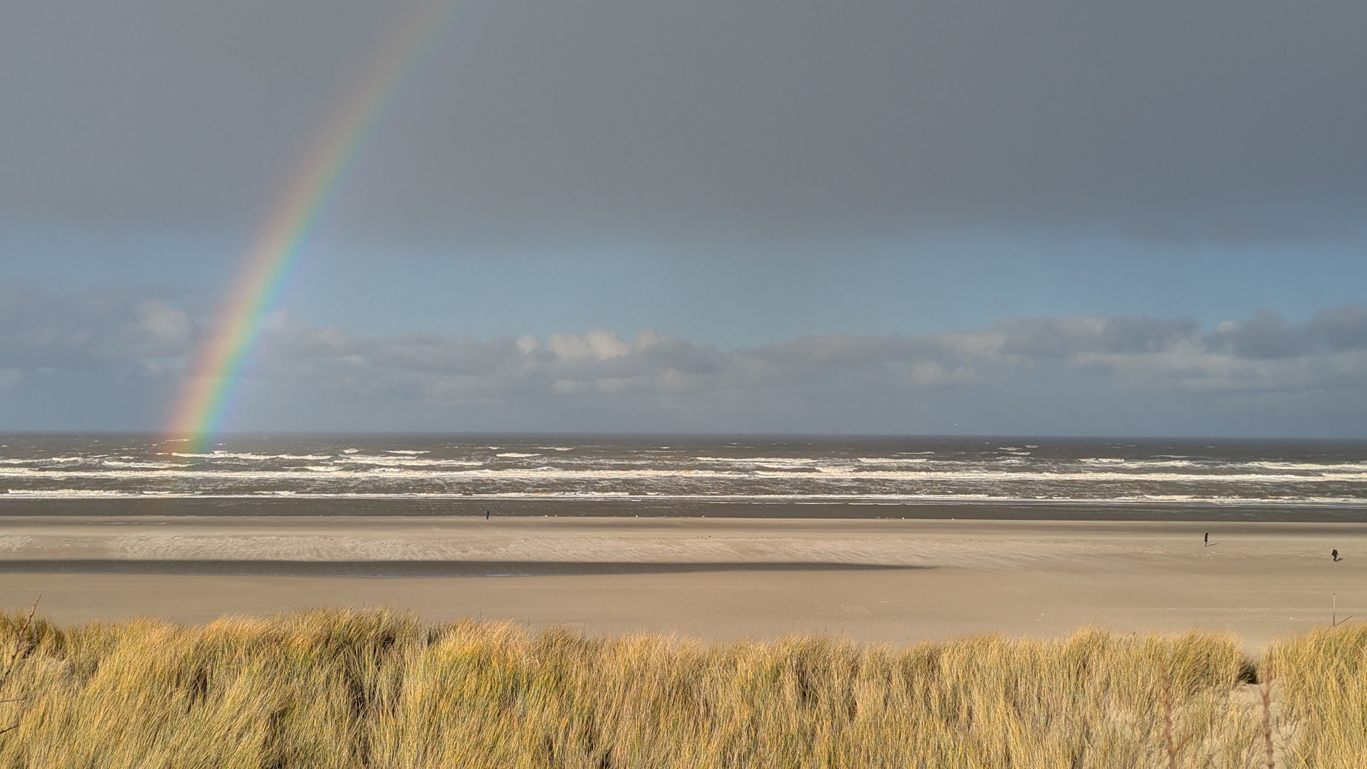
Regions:
<svg viewBox="0 0 1367 769"><path fill-rule="evenodd" d="M409 0L0 0L0 430L157 430ZM463 0L238 430L1363 436L1367 4Z"/></svg>

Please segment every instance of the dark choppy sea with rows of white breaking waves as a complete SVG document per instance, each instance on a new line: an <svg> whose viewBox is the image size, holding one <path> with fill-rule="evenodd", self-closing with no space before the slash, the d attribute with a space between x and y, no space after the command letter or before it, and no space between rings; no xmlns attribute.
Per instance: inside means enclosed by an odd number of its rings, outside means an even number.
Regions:
<svg viewBox="0 0 1367 769"><path fill-rule="evenodd" d="M4 514L1367 521L1367 441L0 435Z"/></svg>

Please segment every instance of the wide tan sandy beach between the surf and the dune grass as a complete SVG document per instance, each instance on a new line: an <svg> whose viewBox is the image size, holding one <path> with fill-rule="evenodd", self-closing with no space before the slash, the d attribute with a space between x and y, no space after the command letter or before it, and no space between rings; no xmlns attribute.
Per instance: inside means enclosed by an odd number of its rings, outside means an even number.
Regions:
<svg viewBox="0 0 1367 769"><path fill-rule="evenodd" d="M1367 524L1346 523L0 517L0 605L41 594L66 623L394 606L705 639L1206 628L1258 649L1329 624L1334 594L1367 620L1364 577Z"/></svg>

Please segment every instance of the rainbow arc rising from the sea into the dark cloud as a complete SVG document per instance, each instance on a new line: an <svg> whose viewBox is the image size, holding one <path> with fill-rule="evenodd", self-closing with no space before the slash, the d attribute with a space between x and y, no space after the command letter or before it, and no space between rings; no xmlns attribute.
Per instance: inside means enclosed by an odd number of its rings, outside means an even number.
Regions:
<svg viewBox="0 0 1367 769"><path fill-rule="evenodd" d="M457 0L422 0L380 47L350 99L325 123L286 194L243 257L213 331L195 350L172 406L168 438L191 453L208 449L232 402L261 331L291 268L355 166L395 94L455 15Z"/></svg>

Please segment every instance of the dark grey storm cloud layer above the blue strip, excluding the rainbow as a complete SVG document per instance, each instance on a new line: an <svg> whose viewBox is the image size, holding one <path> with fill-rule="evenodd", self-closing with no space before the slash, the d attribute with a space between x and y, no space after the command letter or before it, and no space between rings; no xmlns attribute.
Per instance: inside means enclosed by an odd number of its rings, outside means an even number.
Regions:
<svg viewBox="0 0 1367 769"><path fill-rule="evenodd" d="M0 218L249 227L409 3L4 0ZM1106 223L1333 237L1367 4L468 0L357 233Z"/></svg>

